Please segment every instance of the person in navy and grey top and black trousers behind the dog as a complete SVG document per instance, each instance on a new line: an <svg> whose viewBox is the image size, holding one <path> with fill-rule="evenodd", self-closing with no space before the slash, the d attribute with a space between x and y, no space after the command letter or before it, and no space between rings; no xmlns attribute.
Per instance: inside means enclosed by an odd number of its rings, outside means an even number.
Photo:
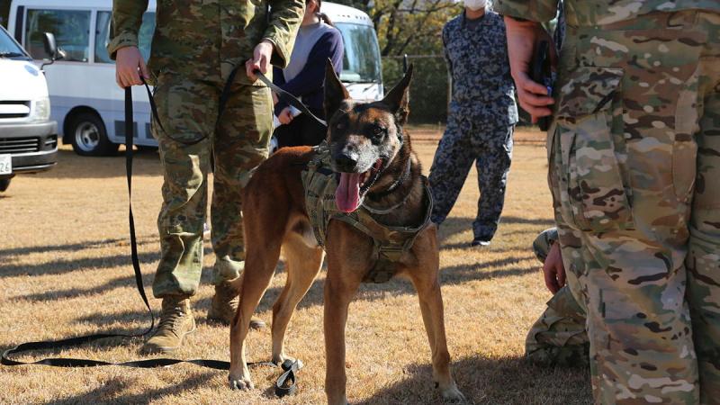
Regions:
<svg viewBox="0 0 720 405"><path fill-rule="evenodd" d="M284 91L299 97L320 119L322 109L325 61L330 59L339 75L343 68L343 38L327 15L320 13L321 0L306 0L305 14L293 55L285 68L275 67L273 82ZM279 148L315 146L325 139L326 128L311 116L293 109L282 100L275 103L275 115L282 125L275 129Z"/></svg>

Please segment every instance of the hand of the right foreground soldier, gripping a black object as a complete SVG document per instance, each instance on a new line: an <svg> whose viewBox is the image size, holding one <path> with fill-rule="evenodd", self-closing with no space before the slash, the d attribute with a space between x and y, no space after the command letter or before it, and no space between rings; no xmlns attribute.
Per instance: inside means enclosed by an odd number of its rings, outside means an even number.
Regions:
<svg viewBox="0 0 720 405"><path fill-rule="evenodd" d="M518 89L518 102L523 110L532 115L535 123L538 118L551 115L549 107L554 103L553 97L547 94L547 87L530 79L530 62L533 58L533 49L540 39L545 38L548 43L554 43L545 29L531 21L505 17L508 37L508 57L510 60L510 73ZM550 47L550 58L553 66L557 63L557 52Z"/></svg>

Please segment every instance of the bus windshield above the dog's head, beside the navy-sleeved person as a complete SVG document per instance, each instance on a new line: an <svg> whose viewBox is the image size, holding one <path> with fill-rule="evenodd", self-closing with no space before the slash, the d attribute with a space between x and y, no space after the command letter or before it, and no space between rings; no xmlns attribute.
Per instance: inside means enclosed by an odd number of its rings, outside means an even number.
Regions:
<svg viewBox="0 0 720 405"><path fill-rule="evenodd" d="M345 43L340 80L347 83L380 83L380 48L370 25L336 23Z"/></svg>

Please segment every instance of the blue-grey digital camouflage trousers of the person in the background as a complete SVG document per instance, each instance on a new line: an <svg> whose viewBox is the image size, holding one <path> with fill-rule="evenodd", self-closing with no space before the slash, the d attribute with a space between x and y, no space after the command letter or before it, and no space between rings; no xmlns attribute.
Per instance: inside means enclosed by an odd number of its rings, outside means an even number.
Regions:
<svg viewBox="0 0 720 405"><path fill-rule="evenodd" d="M481 195L473 234L475 238L492 238L505 202L514 129L513 125L492 127L471 119L469 113L450 114L428 176L435 202L433 222L441 224L446 219L475 162Z"/></svg>

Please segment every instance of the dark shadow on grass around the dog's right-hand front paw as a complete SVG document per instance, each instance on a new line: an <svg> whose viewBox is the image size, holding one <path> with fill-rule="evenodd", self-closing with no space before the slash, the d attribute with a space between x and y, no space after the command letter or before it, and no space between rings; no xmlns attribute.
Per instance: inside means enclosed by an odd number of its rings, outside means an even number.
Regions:
<svg viewBox="0 0 720 405"><path fill-rule="evenodd" d="M419 359L422 360L422 359ZM461 392L476 404L590 404L590 370L531 365L523 358L468 357L452 364ZM358 405L443 403L428 363L410 365L406 378Z"/></svg>

